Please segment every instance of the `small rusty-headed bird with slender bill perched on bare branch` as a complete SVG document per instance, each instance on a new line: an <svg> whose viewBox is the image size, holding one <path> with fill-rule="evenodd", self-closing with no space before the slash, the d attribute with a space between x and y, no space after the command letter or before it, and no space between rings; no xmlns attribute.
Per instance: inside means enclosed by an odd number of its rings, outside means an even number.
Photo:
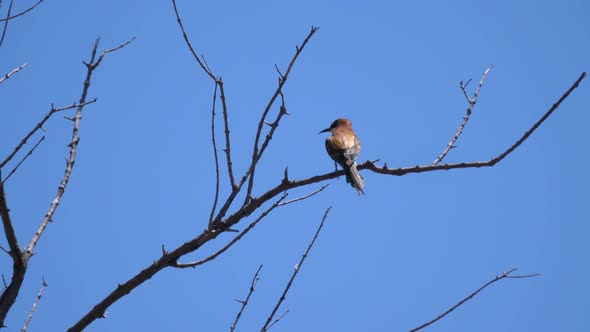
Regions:
<svg viewBox="0 0 590 332"><path fill-rule="evenodd" d="M356 158L361 153L361 141L352 130L352 122L345 118L336 119L330 127L320 131L326 132L332 133L326 138L328 155L344 169L346 182L350 183L359 195L364 195L365 181L356 168Z"/></svg>

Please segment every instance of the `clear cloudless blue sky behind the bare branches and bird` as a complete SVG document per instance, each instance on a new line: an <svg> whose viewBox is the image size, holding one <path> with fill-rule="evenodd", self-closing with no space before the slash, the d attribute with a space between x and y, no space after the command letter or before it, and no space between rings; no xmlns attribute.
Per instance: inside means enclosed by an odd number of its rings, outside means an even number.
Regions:
<svg viewBox="0 0 590 332"><path fill-rule="evenodd" d="M32 3L19 1L14 11ZM353 121L361 161L431 163L467 107L458 83L479 80L494 64L446 159L487 160L590 69L584 0L178 5L194 46L225 81L240 175L276 86L274 64L286 68L311 25L320 27L284 89L292 115L262 160L255 195L277 184L287 166L297 179L331 171L325 135L317 132L338 117ZM12 21L0 74L29 65L0 86L0 159L52 102L79 98L81 61L96 37L104 49L132 36L137 40L95 73L89 95L98 103L85 111L71 184L37 246L8 330L22 327L43 276L49 287L29 331L64 330L157 259L162 244L175 248L206 226L214 191L213 83L188 53L170 1L47 0ZM363 197L343 179L329 181L320 195L275 210L210 264L156 275L88 331L228 330L239 309L234 299L246 296L264 264L238 326L259 329L328 206L325 228L283 305L289 314L272 330L407 331L514 267L542 276L494 284L428 331L585 330L589 91L586 79L493 168L403 177L363 171ZM46 141L6 183L23 244L49 207L68 151L69 121L57 116L45 129ZM0 267L8 278L8 256L0 256Z"/></svg>

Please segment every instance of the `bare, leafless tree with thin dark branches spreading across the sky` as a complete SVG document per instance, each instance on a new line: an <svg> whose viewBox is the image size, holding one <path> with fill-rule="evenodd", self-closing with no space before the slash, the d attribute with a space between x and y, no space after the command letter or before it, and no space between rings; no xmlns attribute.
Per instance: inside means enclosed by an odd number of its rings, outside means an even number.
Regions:
<svg viewBox="0 0 590 332"><path fill-rule="evenodd" d="M9 7L12 7L12 2L10 1ZM34 9L37 5L39 5L43 0L38 1L34 6L31 8L18 13L18 14L11 14L11 10L8 10L8 14L6 18L0 20L0 22L4 23L4 28L2 32L2 39L0 39L0 46L4 40L4 35L6 34L8 23L19 16L22 16L29 12L30 10ZM209 214L209 220L204 221L203 224L205 225L205 229L198 233L194 234L192 237L189 237L182 245L173 248L173 249L166 249L162 246L162 253L159 257L157 257L154 262L141 271L139 271L136 275L131 277L129 280L119 284L115 287L110 293L106 294L102 299L98 299L96 305L90 308L87 313L81 317L77 322L75 322L69 331L81 331L86 328L88 325L92 324L95 320L105 317L107 309L115 302L120 300L121 298L130 294L135 288L142 285L148 279L152 278L154 275L159 273L160 271L173 268L173 269L185 269L185 268L196 268L200 265L203 265L211 260L214 260L218 256L222 255L226 252L229 248L231 248L235 243L237 243L240 239L242 239L250 230L256 227L261 220L263 220L266 216L268 216L273 210L289 205L298 203L302 200L309 199L314 195L320 193L324 188L326 188L327 184L326 181L344 175L344 171L334 171L326 174L318 174L308 178L303 179L292 179L289 177L288 170L284 170L284 176L281 181L276 183L273 187L268 188L259 196L253 195L253 189L256 183L256 170L258 169L259 164L262 162L262 157L266 152L267 148L271 145L273 137L279 128L279 124L283 120L284 116L288 114L287 105L285 104L285 96L283 93L283 88L287 83L288 78L294 71L296 62L300 56L302 56L303 51L309 47L313 36L317 33L318 28L312 27L310 31L307 33L303 41L299 46L296 47L295 53L292 55L292 58L286 68L281 70L278 66L276 70L278 72L278 82L277 86L272 94L270 100L260 113L260 118L258 120L258 125L256 128L256 135L255 139L252 142L251 153L247 156L248 160L248 167L243 174L236 174L233 167L233 158L244 158L245 156L235 155L232 151L231 146L231 125L230 125L230 112L228 110L226 104L226 92L224 89L224 82L220 76L216 75L211 68L208 66L205 58L198 55L195 47L192 45L191 40L183 26L183 21L181 19L181 15L179 9L176 5L176 1L172 0L172 6L174 13L176 15L176 19L178 22L178 26L180 29L180 33L184 38L188 51L192 54L195 65L200 67L202 72L211 79L212 83L215 85L215 90L212 96L212 104L211 104L211 144L213 146L213 157L215 162L215 178L216 178L216 186L215 186L215 194L213 197L213 203L211 206L211 211ZM60 204L60 200L62 195L64 194L65 190L67 189L67 185L72 174L75 160L76 160L76 153L78 149L78 132L80 130L80 123L82 119L82 113L85 106L95 103L96 100L88 100L87 95L90 88L90 83L92 79L92 75L94 71L99 67L102 63L103 59L106 55L118 51L121 48L127 46L133 41L133 39L117 46L114 48L107 49L105 51L99 52L99 41L96 40L92 46L90 60L85 63L86 65L86 78L83 82L83 89L82 94L78 102L74 103L73 105L66 106L66 107L54 107L51 106L47 115L45 115L41 121L33 126L32 130L29 131L23 138L20 140L18 144L15 145L14 149L8 156L1 159L0 162L0 217L2 219L2 225L4 229L4 234L6 237L6 242L8 243L8 248L2 248L8 255L10 255L12 259L12 276L9 281L5 282L5 288L2 291L0 296L0 326L3 326L4 320L9 313L12 305L14 304L15 300L19 296L19 291L21 289L22 283L26 277L27 267L31 261L33 256L33 251L35 246L37 245L38 241L41 239L46 227L52 220L52 216L55 213L58 205ZM0 78L0 84L4 83L8 80L12 75L17 74L23 68L26 67L26 63L14 68L10 72L8 72L5 76ZM508 147L505 151L499 153L496 157L487 160L487 161L472 161L472 162L461 162L461 163L442 163L444 158L447 154L455 147L457 140L460 138L463 129L467 125L470 116L472 115L473 108L476 105L478 96L480 94L480 90L484 85L484 81L490 71L492 70L492 66L484 71L481 76L481 79L478 85L475 87L474 92L472 95L468 92L469 88L469 81L466 83L461 82L460 89L465 95L467 99L467 111L465 116L463 117L456 133L452 136L451 140L446 144L445 148L441 152L441 154L431 163L428 165L422 166L412 166L406 168L389 168L386 162L380 162L378 160L368 160L358 165L359 170L370 171L374 173L378 173L381 175L395 175L395 176L402 176L410 173L422 173L422 172L431 172L431 171L440 171L440 170L451 170L451 169L459 169L459 168L480 168L480 167L492 167L497 163L501 162L507 155L514 152L525 140L527 140L530 135L532 135L535 130L547 120L551 114L557 110L560 104L578 87L580 82L586 76L585 73L582 73L570 86L567 91L563 93L561 98L553 104L549 110L540 118L538 121L530 127L520 139L514 142L510 147ZM221 105L218 105L218 102ZM221 129L218 128L217 124L217 112L218 109L221 109L221 118L223 124ZM50 208L46 212L44 218L40 221L39 226L35 234L31 237L28 244L21 248L21 245L18 241L18 236L15 233L13 228L14 221L12 220L9 203L8 203L8 193L5 192L4 183L10 178L12 174L18 171L19 166L35 151L35 149L39 146L39 144L43 141L44 136L41 137L37 142L26 150L25 147L29 146L29 140L38 133L40 130L43 129L43 126L47 121L53 118L54 115L58 113L63 113L68 110L73 110L74 114L68 119L72 122L72 138L69 144L69 158L67 159L65 172L61 180L59 181L56 194L51 201ZM218 130L222 130L223 135L223 143L219 144L221 147L218 147L218 142L216 141L216 133ZM222 153L220 153L220 151ZM220 156L221 154L222 156ZM20 160L17 161L17 157L20 156ZM8 169L9 165L14 165L10 170ZM220 187L226 185L229 187L229 194L227 197L222 198L220 197ZM289 192L292 189L305 187L309 188L308 194L303 195L301 197L296 198L289 198ZM284 289L281 297L276 303L276 306L273 308L272 312L269 314L264 326L261 327L261 331L267 331L273 324L275 324L278 320L280 320L284 314L277 317L277 312L281 306L281 303L285 299L287 292L289 291L295 277L297 276L297 272L301 268L302 264L304 263L309 251L312 249L313 244L315 243L318 235L326 221L328 216L329 209L323 215L321 219L321 223L317 229L317 232L311 242L308 245L307 250L303 254L299 264L294 269L292 277L287 283L287 286ZM244 222L247 217L251 216L252 214L257 215L253 221L251 221L248 225L244 225ZM240 224L240 226L244 226L243 230L235 231L234 227ZM237 234L227 243L221 245L221 249L217 252L211 254L210 256L196 260L196 261L183 261L184 257L187 254L194 253L198 251L204 244L216 240L220 234L228 233L228 232L237 232ZM245 300L240 300L242 304L240 311L238 312L234 323L232 324L231 330L233 331L239 319L246 309L248 301L250 300L250 296L255 290L256 283L258 281L259 273L261 272L262 265L256 271L250 286L250 291ZM453 311L456 307L462 305L466 301L468 301L473 296L477 295L479 291L483 288L491 285L502 279L509 279L509 278L526 278L531 277L534 275L521 275L521 276L513 276L511 273L514 270L510 270L508 272L502 273L501 275L493 278L488 283L484 284L480 289L476 290L475 292L469 294L466 298L462 299L456 305L450 307L449 310L445 311L435 319L415 328L412 331L420 330L432 323L435 323L440 318L446 316L451 311ZM28 322L30 321L33 311L35 310L38 301L41 299L43 291L47 287L47 284L43 282L43 287L39 292L38 298L33 304L32 310L26 320L25 327L23 330L26 330Z"/></svg>

